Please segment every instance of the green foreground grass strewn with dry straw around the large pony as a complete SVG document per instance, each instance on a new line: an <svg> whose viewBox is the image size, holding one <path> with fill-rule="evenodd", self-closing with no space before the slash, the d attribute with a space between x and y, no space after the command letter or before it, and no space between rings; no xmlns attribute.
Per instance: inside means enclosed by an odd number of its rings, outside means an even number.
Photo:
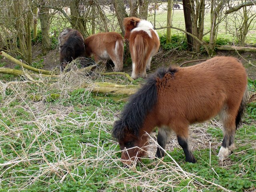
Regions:
<svg viewBox="0 0 256 192"><path fill-rule="evenodd" d="M1 192L255 190L255 103L248 106L243 127L236 132L236 150L224 162L216 156L222 141L221 124L216 118L191 126L196 164L184 161L175 136L170 138L165 158L154 159L154 132L150 135L149 157L124 168L118 144L111 136L124 101L79 88L83 82L92 82L82 77L72 71L34 83L0 81ZM122 77L94 78L131 84ZM255 87L256 81L250 81L250 92L255 93Z"/></svg>

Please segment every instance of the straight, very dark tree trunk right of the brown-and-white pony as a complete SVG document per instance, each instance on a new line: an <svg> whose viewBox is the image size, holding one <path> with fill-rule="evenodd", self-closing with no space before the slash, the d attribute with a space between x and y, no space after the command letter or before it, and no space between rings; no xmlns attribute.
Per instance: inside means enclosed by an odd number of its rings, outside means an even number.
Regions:
<svg viewBox="0 0 256 192"><path fill-rule="evenodd" d="M182 0L183 3L183 12L185 19L185 27L186 31L192 34L192 20L191 20L191 5L190 0ZM188 50L192 50L193 48L193 38L189 35L186 35L188 41Z"/></svg>

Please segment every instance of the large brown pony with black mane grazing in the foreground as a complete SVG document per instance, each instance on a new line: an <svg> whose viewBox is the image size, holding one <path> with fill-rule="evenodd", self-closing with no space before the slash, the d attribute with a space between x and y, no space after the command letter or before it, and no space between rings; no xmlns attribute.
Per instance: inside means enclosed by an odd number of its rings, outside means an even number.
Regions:
<svg viewBox="0 0 256 192"><path fill-rule="evenodd" d="M190 124L204 122L217 114L223 124L223 141L218 157L225 159L234 150L234 135L246 107L246 71L232 57L214 57L189 67L158 70L136 92L114 123L122 162L131 164L144 156L146 133L158 127L156 157L164 156L173 130L187 162L196 162L188 144Z"/></svg>

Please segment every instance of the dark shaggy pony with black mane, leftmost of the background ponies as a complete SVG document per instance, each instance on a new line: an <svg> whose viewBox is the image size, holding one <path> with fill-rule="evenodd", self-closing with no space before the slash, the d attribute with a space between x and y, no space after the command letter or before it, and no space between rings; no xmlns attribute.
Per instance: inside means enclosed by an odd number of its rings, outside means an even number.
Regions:
<svg viewBox="0 0 256 192"><path fill-rule="evenodd" d="M80 32L66 28L58 36L61 70L79 56L85 56L84 38Z"/></svg>

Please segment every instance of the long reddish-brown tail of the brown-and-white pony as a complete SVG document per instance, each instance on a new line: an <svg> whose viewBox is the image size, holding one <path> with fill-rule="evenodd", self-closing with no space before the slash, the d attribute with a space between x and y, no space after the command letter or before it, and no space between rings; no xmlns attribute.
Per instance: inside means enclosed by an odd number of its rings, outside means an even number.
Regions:
<svg viewBox="0 0 256 192"><path fill-rule="evenodd" d="M146 68L144 40L140 34L134 39L134 51L135 73L139 74Z"/></svg>

